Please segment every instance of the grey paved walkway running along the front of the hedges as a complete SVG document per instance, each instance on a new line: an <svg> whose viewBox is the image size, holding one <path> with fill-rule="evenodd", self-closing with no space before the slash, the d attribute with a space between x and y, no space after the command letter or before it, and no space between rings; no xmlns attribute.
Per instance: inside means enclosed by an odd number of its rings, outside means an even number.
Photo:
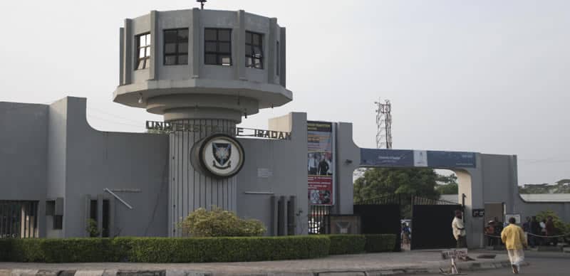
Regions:
<svg viewBox="0 0 570 276"><path fill-rule="evenodd" d="M477 252L470 255L475 256ZM460 262L465 270L494 269L507 264L507 255L498 253L492 260L477 259ZM23 263L0 262L1 271L11 270L87 270L87 271L141 271L160 272L165 275L385 275L426 273L447 267L450 260L442 260L439 251L404 253L373 253L336 255L312 260L281 260L267 262L219 262L219 263Z"/></svg>

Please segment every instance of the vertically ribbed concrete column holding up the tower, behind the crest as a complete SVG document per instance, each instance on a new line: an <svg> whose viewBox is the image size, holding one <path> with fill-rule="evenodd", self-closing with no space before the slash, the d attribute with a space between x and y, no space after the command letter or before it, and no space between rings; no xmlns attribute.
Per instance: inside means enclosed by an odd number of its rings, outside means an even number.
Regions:
<svg viewBox="0 0 570 276"><path fill-rule="evenodd" d="M197 208L217 206L237 211L237 177L217 179L204 175L192 165L190 157L192 147L200 139L215 133L234 136L236 123L223 119L176 120L171 123L195 126L192 132L170 134L169 235L180 237L182 232L177 228L178 223Z"/></svg>

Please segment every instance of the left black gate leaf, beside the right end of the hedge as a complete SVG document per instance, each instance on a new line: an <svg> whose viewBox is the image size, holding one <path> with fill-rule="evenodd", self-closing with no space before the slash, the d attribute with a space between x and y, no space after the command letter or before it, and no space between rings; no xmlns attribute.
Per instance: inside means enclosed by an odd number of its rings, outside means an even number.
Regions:
<svg viewBox="0 0 570 276"><path fill-rule="evenodd" d="M361 217L363 234L396 235L395 251L400 251L400 206L403 196L388 195L354 203L354 214Z"/></svg>

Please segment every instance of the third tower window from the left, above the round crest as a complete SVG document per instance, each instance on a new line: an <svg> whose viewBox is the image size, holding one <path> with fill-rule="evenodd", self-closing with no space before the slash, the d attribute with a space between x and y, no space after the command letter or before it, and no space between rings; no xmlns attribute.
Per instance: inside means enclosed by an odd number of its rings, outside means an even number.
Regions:
<svg viewBox="0 0 570 276"><path fill-rule="evenodd" d="M204 63L209 65L232 65L231 29L204 29Z"/></svg>

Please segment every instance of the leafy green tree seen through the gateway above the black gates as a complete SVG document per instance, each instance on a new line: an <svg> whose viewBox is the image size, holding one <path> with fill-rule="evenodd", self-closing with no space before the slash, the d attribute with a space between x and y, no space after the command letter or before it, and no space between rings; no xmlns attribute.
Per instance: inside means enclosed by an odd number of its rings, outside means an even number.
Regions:
<svg viewBox="0 0 570 276"><path fill-rule="evenodd" d="M354 201L377 198L388 194L410 194L437 199L437 174L432 169L368 169L354 182Z"/></svg>

